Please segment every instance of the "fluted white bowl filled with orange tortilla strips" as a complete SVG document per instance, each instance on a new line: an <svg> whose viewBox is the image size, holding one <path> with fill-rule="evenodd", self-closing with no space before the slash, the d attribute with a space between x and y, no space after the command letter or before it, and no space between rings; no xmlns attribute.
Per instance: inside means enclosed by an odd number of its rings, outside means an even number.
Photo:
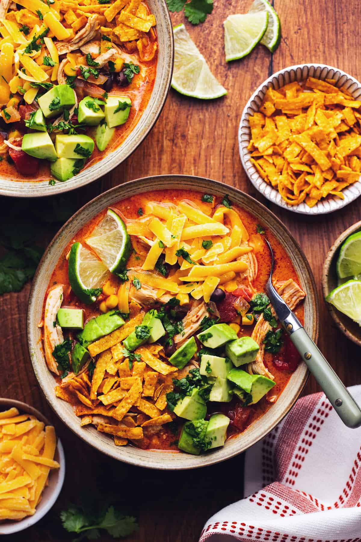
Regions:
<svg viewBox="0 0 361 542"><path fill-rule="evenodd" d="M336 211L361 194L361 83L325 64L280 70L251 96L238 140L248 177L272 203Z"/></svg>

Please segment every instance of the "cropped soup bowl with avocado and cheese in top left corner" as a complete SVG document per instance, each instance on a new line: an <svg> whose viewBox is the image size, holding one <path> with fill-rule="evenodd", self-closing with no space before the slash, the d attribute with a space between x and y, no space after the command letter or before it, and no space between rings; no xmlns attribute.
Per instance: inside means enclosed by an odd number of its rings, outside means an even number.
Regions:
<svg viewBox="0 0 361 542"><path fill-rule="evenodd" d="M123 162L159 116L173 70L167 4L13 6L0 28L0 193L73 190L104 160L107 172Z"/></svg>

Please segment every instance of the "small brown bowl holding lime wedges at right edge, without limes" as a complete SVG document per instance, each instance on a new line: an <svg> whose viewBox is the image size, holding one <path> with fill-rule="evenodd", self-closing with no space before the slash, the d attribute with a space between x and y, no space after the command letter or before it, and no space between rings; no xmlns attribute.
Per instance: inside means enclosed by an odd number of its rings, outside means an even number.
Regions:
<svg viewBox="0 0 361 542"><path fill-rule="evenodd" d="M355 224L352 224L350 228L347 228L347 230L345 230L341 235L339 235L336 241L333 243L332 247L327 253L325 263L323 265L321 286L327 311L329 311L329 313L331 314L331 318L333 319L334 323L337 325L339 330L347 337L347 339L352 340L353 343L357 344L357 346L361 346L361 328L359 337L357 337L357 335L355 335L355 333L353 333L349 329L350 325L354 322L352 322L350 318L347 318L345 314L340 313L336 307L331 305L331 303L327 303L326 301L326 296L330 293L328 284L329 274L332 273L334 276L336 276L336 255L338 253L338 250L342 243L347 239L347 237L349 237L349 235L355 234L357 231L361 231L361 220L359 222L356 222ZM349 326L347 326L347 322L349 322Z"/></svg>

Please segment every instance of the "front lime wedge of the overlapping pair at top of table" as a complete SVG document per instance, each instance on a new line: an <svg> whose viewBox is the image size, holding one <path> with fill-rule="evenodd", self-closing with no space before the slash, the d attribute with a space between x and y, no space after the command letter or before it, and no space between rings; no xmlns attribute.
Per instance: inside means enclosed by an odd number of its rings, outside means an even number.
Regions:
<svg viewBox="0 0 361 542"><path fill-rule="evenodd" d="M268 12L228 15L225 22L226 62L251 53L267 30Z"/></svg>

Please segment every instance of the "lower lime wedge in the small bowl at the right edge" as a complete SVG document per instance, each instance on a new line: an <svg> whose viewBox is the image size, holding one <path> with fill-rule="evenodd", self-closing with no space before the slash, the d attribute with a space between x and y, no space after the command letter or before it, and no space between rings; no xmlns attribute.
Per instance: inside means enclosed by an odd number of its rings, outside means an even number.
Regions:
<svg viewBox="0 0 361 542"><path fill-rule="evenodd" d="M361 325L361 280L348 280L332 290L326 301Z"/></svg>

